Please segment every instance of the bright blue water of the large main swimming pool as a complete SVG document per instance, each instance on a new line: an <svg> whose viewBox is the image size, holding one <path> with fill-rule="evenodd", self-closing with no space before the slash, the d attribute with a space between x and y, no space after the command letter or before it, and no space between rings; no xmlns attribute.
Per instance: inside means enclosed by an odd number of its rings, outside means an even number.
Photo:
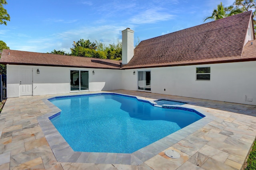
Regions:
<svg viewBox="0 0 256 170"><path fill-rule="evenodd" d="M80 152L132 153L204 117L115 94L67 96L50 102L62 110L51 119L53 125Z"/></svg>

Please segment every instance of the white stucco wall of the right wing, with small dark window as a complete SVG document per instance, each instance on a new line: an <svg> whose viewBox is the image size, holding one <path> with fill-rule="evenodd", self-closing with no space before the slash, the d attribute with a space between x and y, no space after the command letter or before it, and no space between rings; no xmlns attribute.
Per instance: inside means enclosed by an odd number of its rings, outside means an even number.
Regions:
<svg viewBox="0 0 256 170"><path fill-rule="evenodd" d="M205 66L210 80L196 80L196 67ZM138 89L138 70L151 71L152 93L256 105L256 61L123 70L124 89Z"/></svg>

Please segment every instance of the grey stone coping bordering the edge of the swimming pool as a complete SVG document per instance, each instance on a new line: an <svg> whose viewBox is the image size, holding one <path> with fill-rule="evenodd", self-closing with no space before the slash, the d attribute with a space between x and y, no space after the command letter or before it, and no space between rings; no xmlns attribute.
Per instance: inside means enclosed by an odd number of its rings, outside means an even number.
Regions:
<svg viewBox="0 0 256 170"><path fill-rule="evenodd" d="M105 94L113 94L113 92L104 92ZM101 93L94 93L101 94ZM119 94L119 93L114 93ZM90 95L90 94L87 94ZM119 94L121 96L132 96L126 94ZM69 95L69 96L77 96L77 95ZM81 95L78 95L81 96ZM83 95L82 95L83 96ZM59 96L56 96L57 98ZM54 98L56 98L54 97ZM63 96L60 96L60 98ZM154 104L154 100L148 100L146 98L142 98L139 96L136 97L139 101L144 100ZM214 119L214 117L208 112L201 110L200 108L195 108L192 105L184 104L182 107L188 109L194 109L199 113L205 115L202 119L142 148L131 154L127 153L106 153L106 152L76 152L74 151L70 145L66 142L66 140L60 135L58 130L54 127L49 117L56 116L60 113L60 109L52 104L48 99L45 98L42 101L52 110L49 113L46 113L40 117L38 117L38 123L56 157L58 162L75 162L75 163L94 163L94 164L127 164L127 165L140 165L143 162L149 160L150 158L156 156L163 150L172 147L174 144L178 143L182 139L188 137L198 129L204 127L206 124L210 123ZM152 105L151 104L151 105ZM170 106L169 107L173 107ZM175 106L177 107L177 106ZM180 107L180 106L178 106Z"/></svg>

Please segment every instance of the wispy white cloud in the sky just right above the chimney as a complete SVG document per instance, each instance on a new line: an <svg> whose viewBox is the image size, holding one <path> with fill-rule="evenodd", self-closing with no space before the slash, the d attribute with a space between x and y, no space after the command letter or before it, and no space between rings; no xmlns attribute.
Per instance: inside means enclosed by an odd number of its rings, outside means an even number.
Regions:
<svg viewBox="0 0 256 170"><path fill-rule="evenodd" d="M134 24L141 23L156 23L158 21L166 21L174 18L174 15L166 12L161 12L162 8L150 8L144 12L139 13L131 19Z"/></svg>

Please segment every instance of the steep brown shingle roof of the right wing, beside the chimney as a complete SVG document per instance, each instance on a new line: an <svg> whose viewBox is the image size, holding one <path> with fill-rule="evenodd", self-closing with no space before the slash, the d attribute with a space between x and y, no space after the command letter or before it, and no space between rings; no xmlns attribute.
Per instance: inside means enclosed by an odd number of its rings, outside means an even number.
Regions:
<svg viewBox="0 0 256 170"><path fill-rule="evenodd" d="M123 68L147 68L242 59L252 12L244 12L141 41ZM255 58L255 56L254 56Z"/></svg>

